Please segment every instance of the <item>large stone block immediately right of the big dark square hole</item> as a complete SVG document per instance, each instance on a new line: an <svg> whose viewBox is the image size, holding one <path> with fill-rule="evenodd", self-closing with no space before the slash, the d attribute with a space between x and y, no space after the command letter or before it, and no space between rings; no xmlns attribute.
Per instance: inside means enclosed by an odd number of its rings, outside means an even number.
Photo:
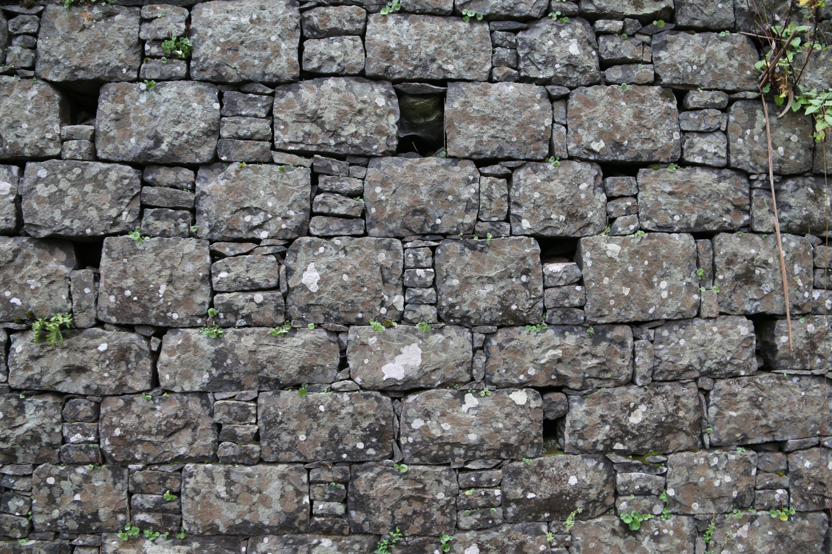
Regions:
<svg viewBox="0 0 832 554"><path fill-rule="evenodd" d="M452 157L544 159L552 103L542 86L448 83L445 133Z"/></svg>

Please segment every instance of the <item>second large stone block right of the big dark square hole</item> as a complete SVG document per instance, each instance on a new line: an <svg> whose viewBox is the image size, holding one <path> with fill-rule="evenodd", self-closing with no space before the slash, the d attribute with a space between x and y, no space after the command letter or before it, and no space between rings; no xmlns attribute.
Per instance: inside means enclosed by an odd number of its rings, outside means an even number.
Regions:
<svg viewBox="0 0 832 554"><path fill-rule="evenodd" d="M570 156L605 162L670 162L681 154L676 97L669 89L578 88L569 95L568 115Z"/></svg>

